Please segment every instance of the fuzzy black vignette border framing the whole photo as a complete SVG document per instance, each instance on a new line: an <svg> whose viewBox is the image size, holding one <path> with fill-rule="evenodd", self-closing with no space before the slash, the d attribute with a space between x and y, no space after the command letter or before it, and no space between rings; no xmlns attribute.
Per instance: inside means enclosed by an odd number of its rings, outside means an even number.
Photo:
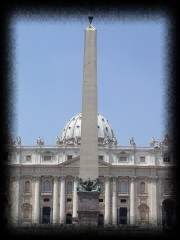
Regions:
<svg viewBox="0 0 180 240"><path fill-rule="evenodd" d="M145 2L145 3L144 3ZM173 140L173 154L174 159L176 160L177 168L174 171L173 178L178 183L178 173L179 173L179 88L178 88L178 64L179 64L179 18L178 18L178 4L171 3L171 1L103 1L102 3L98 3L97 1L1 1L0 8L0 73L1 73L1 85L0 85L0 176L1 176L1 184L0 184L0 194L1 194L1 229L3 230L3 234L8 237L33 237L41 236L43 239L45 237L57 237L62 238L63 235L55 235L53 232L47 232L43 235L35 232L23 233L19 232L11 232L7 226L7 221L5 218L4 209L7 203L6 196L6 178L8 175L8 170L6 167L7 160L7 148L6 145L11 138L11 134L13 132L12 121L15 116L13 103L14 103L14 89L15 83L13 82L13 38L12 38L12 29L10 26L10 21L14 14L19 16L28 16L30 18L38 17L38 18L46 18L48 16L61 16L64 19L69 17L75 17L78 19L82 14L88 14L89 9L92 9L94 16L98 15L102 19L111 18L111 20L115 21L123 15L131 15L141 18L141 17L150 17L158 16L158 14L162 14L170 20L170 25L168 27L168 36L167 36L167 51L168 51L168 61L167 61L167 69L168 69L168 83L166 86L166 101L167 101L167 128L169 133L171 134ZM179 184L178 184L178 192L177 192L177 201L179 195ZM178 207L179 212L179 207ZM161 237L171 237L177 236L179 233L179 213L177 212L177 224L171 235L166 234ZM179 234L178 234L179 235ZM96 233L92 232L84 232L81 236L78 235L64 235L64 237L83 237L83 238L94 238L98 236ZM109 238L111 235L103 236L104 238ZM134 236L134 234L131 234ZM122 235L122 237L131 237L129 235ZM137 235L135 235L137 236ZM134 236L134 237L135 237ZM138 235L138 237L142 237L143 235ZM155 235L152 233L148 235L150 237L154 237ZM145 236L145 237L148 237ZM116 236L114 236L116 237ZM121 236L120 236L121 237ZM157 237L157 236L155 236Z"/></svg>

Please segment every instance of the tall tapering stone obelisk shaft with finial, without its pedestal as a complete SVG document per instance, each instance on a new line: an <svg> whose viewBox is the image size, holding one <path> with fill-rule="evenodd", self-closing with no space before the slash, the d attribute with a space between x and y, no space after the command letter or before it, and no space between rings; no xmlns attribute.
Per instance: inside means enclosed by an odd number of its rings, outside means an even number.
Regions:
<svg viewBox="0 0 180 240"><path fill-rule="evenodd" d="M85 29L79 177L98 178L97 49L93 16Z"/></svg>

